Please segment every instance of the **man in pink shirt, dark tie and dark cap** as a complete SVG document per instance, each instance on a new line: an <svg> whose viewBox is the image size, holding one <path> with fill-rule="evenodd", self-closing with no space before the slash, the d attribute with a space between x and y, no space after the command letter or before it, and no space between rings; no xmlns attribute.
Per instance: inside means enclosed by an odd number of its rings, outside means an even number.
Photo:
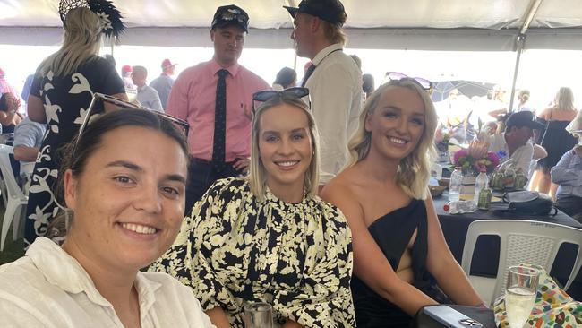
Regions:
<svg viewBox="0 0 582 328"><path fill-rule="evenodd" d="M248 23L240 7L218 7L210 30L214 56L180 73L167 100L166 112L190 124L187 214L217 179L244 174L249 165L252 94L270 85L238 64Z"/></svg>

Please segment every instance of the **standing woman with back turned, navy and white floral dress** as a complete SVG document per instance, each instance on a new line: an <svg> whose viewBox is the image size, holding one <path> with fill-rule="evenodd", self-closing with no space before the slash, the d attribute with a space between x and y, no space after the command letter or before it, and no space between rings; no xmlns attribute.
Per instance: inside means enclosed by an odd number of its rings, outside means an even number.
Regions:
<svg viewBox="0 0 582 328"><path fill-rule="evenodd" d="M107 14L78 7L61 12L61 17L63 46L39 65L28 99L30 119L47 124L29 190L24 233L28 245L47 233L59 211L55 186L62 156L57 150L79 131L93 93L127 99L115 67L98 56Z"/></svg>

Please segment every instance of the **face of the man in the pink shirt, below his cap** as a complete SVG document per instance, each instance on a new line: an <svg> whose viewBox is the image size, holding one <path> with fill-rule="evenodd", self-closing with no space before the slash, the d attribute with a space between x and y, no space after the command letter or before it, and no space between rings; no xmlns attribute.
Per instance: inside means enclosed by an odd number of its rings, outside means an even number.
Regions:
<svg viewBox="0 0 582 328"><path fill-rule="evenodd" d="M235 64L243 53L246 32L238 25L227 25L210 30L214 43L214 57L218 64L227 67Z"/></svg>

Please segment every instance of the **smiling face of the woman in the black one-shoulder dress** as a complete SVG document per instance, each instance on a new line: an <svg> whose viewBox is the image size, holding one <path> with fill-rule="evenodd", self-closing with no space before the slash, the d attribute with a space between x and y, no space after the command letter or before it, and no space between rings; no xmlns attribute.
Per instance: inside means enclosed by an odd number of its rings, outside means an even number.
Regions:
<svg viewBox="0 0 582 328"><path fill-rule="evenodd" d="M387 160L403 160L423 136L424 117L424 102L416 91L389 87L365 120L365 130L372 134L371 151Z"/></svg>

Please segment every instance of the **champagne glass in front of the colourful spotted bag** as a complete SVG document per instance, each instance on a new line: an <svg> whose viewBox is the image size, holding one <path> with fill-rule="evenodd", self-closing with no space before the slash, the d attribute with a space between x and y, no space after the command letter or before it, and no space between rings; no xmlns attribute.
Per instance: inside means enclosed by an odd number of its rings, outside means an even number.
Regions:
<svg viewBox="0 0 582 328"><path fill-rule="evenodd" d="M539 273L526 266L509 267L505 293L509 328L522 328L529 318L535 303Z"/></svg>

